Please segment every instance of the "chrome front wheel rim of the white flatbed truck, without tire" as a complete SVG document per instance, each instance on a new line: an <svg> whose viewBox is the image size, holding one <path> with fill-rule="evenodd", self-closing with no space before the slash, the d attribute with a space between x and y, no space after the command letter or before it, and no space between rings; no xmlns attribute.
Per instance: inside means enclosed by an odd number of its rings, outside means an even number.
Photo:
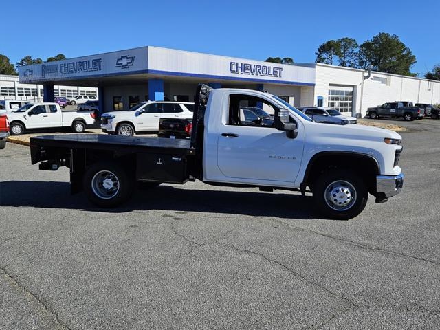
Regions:
<svg viewBox="0 0 440 330"><path fill-rule="evenodd" d="M333 181L325 189L324 198L327 205L333 210L345 211L354 205L356 190L347 181Z"/></svg>

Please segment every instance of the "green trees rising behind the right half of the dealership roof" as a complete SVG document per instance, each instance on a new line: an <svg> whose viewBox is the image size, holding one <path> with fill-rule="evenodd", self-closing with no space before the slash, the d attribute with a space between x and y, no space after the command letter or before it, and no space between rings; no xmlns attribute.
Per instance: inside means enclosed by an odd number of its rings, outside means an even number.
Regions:
<svg viewBox="0 0 440 330"><path fill-rule="evenodd" d="M332 39L319 45L315 55L316 63L358 69L367 69L371 66L374 71L378 72L419 76L419 74L410 72L412 65L417 62L415 55L395 34L382 32L362 44L358 44L358 41L349 37ZM265 61L294 64L294 60L289 57L269 57ZM426 72L424 77L440 80L440 65L435 65L432 71Z"/></svg>

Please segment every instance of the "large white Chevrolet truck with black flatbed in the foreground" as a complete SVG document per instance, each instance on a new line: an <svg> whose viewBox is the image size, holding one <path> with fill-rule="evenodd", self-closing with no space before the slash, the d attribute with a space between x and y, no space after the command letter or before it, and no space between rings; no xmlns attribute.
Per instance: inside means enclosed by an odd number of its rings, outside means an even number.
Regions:
<svg viewBox="0 0 440 330"><path fill-rule="evenodd" d="M272 126L243 124L240 108L255 103L272 107ZM199 179L265 192L312 192L314 209L351 219L369 193L381 203L401 191L400 144L401 136L386 129L314 122L265 92L199 85L190 140L45 135L30 139L30 151L41 170L70 168L72 193L85 190L102 207L126 201L136 181L153 188Z"/></svg>

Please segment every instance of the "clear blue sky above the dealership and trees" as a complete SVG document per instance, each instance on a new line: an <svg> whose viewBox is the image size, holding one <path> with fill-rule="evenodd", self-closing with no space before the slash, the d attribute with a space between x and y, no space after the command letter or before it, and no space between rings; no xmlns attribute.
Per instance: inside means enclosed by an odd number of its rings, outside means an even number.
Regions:
<svg viewBox="0 0 440 330"><path fill-rule="evenodd" d="M397 34L424 74L440 63L440 1L2 1L0 54L45 60L155 45L313 62L329 39ZM8 14L6 14L8 13ZM8 27L8 28L6 28Z"/></svg>

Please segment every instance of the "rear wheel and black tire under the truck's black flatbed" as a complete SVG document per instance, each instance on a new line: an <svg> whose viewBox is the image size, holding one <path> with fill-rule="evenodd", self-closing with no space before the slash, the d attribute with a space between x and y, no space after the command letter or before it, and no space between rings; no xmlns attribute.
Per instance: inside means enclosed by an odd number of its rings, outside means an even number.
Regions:
<svg viewBox="0 0 440 330"><path fill-rule="evenodd" d="M91 203L113 208L131 197L133 181L120 164L98 162L86 170L83 187Z"/></svg>

